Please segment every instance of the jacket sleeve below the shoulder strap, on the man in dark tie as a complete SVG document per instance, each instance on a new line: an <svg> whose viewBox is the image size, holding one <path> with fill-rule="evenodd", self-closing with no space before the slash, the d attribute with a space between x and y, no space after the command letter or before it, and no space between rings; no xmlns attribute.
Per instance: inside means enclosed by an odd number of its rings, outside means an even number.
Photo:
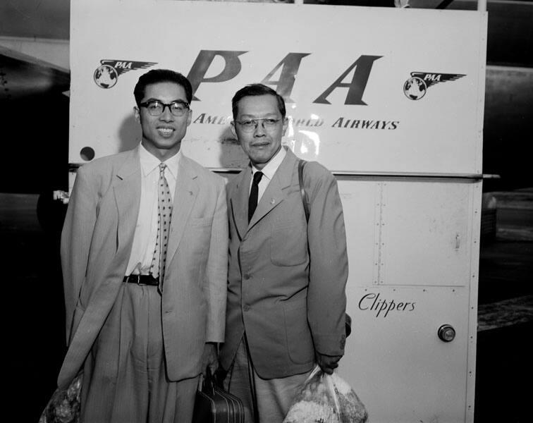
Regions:
<svg viewBox="0 0 533 423"><path fill-rule="evenodd" d="M343 355L348 254L341 197L336 179L326 168L312 162L305 173L310 203L307 319L314 348L325 355Z"/></svg>

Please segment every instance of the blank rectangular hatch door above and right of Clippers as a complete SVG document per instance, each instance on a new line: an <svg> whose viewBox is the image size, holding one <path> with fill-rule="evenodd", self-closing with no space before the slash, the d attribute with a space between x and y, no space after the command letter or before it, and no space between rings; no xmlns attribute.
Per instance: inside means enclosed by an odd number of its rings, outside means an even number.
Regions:
<svg viewBox="0 0 533 423"><path fill-rule="evenodd" d="M379 283L469 283L472 186L431 180L384 182Z"/></svg>

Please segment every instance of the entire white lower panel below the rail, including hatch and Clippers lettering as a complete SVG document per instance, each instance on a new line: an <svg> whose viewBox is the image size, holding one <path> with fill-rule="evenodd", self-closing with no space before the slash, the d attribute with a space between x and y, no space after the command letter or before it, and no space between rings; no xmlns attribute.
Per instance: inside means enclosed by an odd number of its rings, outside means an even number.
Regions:
<svg viewBox="0 0 533 423"><path fill-rule="evenodd" d="M352 317L339 374L372 422L472 422L482 182L341 176L338 187Z"/></svg>

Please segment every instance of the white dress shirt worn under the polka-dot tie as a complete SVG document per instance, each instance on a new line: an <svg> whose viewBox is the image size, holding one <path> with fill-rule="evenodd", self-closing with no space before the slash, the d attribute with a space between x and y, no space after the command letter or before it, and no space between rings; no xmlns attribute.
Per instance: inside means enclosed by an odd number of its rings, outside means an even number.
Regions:
<svg viewBox="0 0 533 423"><path fill-rule="evenodd" d="M157 239L157 181L159 180L159 164L161 161L145 147L139 145L141 166L141 197L137 226L133 235L133 247L125 276L130 274L149 274ZM165 178L169 184L172 202L176 190L176 178L181 151L164 161L166 164Z"/></svg>

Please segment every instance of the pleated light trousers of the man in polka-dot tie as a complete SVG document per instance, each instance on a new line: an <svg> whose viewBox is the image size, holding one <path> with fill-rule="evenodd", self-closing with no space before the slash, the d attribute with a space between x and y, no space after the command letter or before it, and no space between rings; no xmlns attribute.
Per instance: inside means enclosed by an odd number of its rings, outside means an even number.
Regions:
<svg viewBox="0 0 533 423"><path fill-rule="evenodd" d="M188 423L198 377L166 377L157 286L124 283L85 361L81 423Z"/></svg>

